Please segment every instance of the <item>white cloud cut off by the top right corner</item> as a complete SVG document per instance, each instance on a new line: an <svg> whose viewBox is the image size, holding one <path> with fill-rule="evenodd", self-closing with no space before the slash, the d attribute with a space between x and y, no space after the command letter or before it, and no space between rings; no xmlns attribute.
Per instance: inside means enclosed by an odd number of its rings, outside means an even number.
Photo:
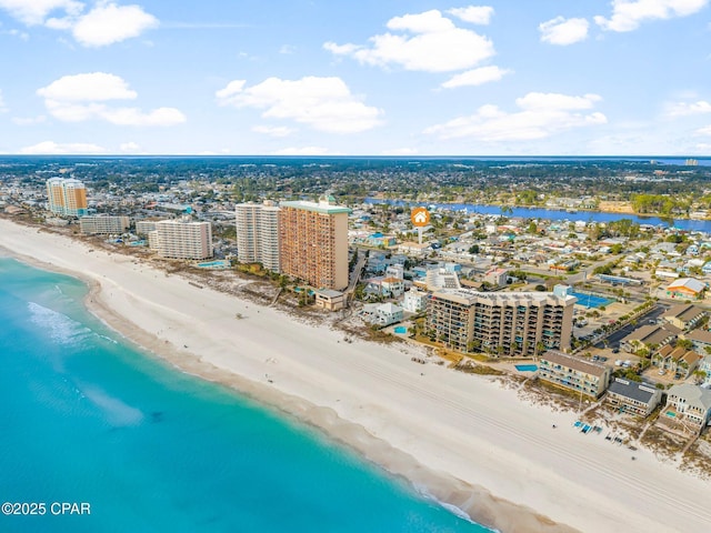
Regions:
<svg viewBox="0 0 711 533"><path fill-rule="evenodd" d="M709 0L612 0L612 16L594 21L611 31L632 31L648 20L665 20L687 17L700 11Z"/></svg>

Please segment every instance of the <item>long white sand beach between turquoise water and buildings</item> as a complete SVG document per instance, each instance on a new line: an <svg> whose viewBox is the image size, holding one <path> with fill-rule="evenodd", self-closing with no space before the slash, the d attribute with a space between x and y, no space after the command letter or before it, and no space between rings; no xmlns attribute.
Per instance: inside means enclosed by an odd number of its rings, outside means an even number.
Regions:
<svg viewBox="0 0 711 533"><path fill-rule="evenodd" d="M490 379L413 363L414 348L347 343L341 331L8 220L0 220L0 247L90 282L93 312L182 370L322 428L503 532L711 524L711 483L581 434L574 414L530 405Z"/></svg>

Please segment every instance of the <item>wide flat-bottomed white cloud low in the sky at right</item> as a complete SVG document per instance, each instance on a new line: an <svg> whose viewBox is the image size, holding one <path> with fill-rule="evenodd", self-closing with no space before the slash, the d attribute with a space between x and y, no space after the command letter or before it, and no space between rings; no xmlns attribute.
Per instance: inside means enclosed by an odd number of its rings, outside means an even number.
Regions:
<svg viewBox="0 0 711 533"><path fill-rule="evenodd" d="M507 112L497 105L482 105L469 117L460 117L424 132L442 139L469 137L480 141L521 141L545 139L561 131L607 123L600 112L584 113L599 101L597 94L571 97L531 92L515 100L519 111Z"/></svg>

